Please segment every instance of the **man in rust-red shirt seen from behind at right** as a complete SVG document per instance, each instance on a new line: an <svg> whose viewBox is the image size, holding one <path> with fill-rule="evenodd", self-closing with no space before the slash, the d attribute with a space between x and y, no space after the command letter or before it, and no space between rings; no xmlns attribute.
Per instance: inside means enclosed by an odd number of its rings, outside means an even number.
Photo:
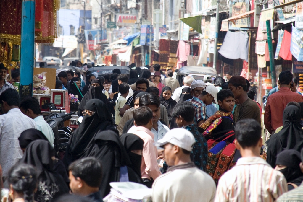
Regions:
<svg viewBox="0 0 303 202"><path fill-rule="evenodd" d="M278 84L280 89L268 96L264 113L264 125L269 133L283 125L283 111L289 102L303 102L303 96L292 92L293 75L290 71L282 71L279 75Z"/></svg>

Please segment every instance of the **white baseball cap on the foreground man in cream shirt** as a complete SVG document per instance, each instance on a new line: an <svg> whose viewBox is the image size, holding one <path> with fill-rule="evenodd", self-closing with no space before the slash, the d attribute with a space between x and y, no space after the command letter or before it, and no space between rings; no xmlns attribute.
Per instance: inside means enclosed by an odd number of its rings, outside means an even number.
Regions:
<svg viewBox="0 0 303 202"><path fill-rule="evenodd" d="M192 151L196 140L194 135L184 128L175 128L168 131L162 139L159 139L155 146L161 147L167 143L177 145L187 151Z"/></svg>

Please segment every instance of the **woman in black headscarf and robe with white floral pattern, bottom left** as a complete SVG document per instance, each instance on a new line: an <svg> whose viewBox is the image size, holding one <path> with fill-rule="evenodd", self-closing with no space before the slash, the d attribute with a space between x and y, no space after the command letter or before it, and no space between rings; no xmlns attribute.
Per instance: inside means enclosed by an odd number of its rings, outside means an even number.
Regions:
<svg viewBox="0 0 303 202"><path fill-rule="evenodd" d="M69 193L69 188L63 178L53 169L52 156L55 156L55 153L49 142L38 139L27 146L19 161L19 163L36 167L39 182L35 200L39 202L51 202L61 195Z"/></svg>

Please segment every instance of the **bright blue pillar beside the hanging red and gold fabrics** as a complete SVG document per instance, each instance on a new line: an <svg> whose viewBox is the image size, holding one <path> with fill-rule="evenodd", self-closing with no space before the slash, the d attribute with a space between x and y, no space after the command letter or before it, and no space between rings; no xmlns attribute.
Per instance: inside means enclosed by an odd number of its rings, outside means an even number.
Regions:
<svg viewBox="0 0 303 202"><path fill-rule="evenodd" d="M33 94L35 0L22 0L20 99Z"/></svg>

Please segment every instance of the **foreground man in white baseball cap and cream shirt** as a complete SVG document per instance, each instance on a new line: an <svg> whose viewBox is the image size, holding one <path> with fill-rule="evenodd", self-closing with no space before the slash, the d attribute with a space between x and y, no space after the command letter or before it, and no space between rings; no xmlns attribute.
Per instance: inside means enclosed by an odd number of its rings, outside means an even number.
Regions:
<svg viewBox="0 0 303 202"><path fill-rule="evenodd" d="M164 159L169 168L152 185L153 202L214 200L214 180L191 162L190 153L195 142L191 132L176 128L155 143L156 146L164 147Z"/></svg>

